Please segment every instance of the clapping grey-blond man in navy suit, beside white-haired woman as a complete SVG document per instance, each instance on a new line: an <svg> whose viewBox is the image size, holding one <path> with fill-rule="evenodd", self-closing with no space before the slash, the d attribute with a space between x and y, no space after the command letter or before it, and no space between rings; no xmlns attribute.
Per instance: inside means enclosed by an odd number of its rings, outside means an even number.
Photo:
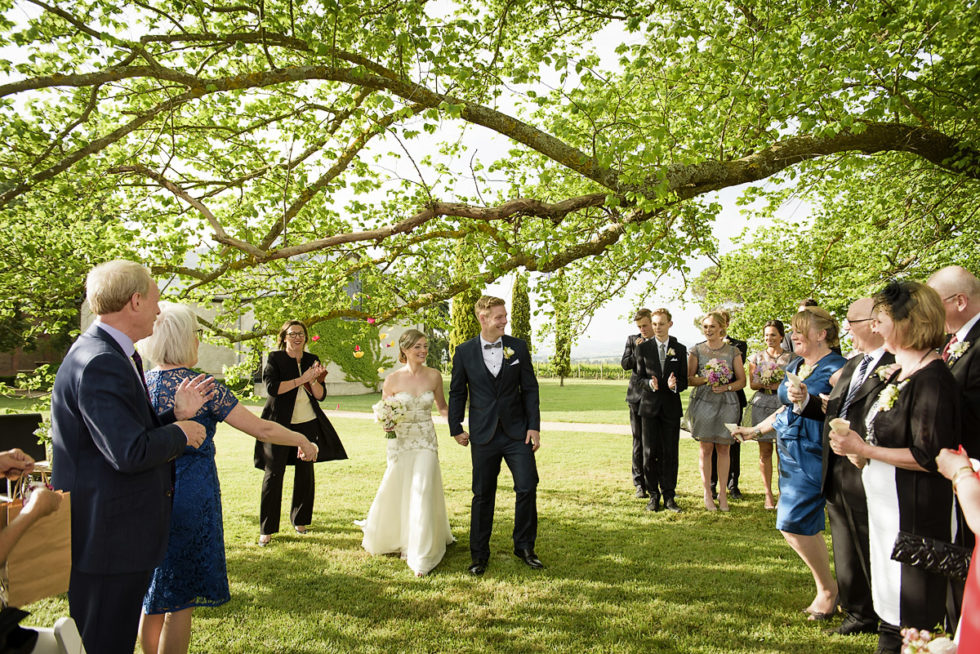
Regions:
<svg viewBox="0 0 980 654"><path fill-rule="evenodd" d="M132 654L143 595L167 548L172 462L204 441L204 426L189 419L213 380L182 384L174 410L158 417L133 345L153 333L156 283L139 264L110 261L85 286L98 320L55 377L52 483L72 494L68 604L85 649Z"/></svg>

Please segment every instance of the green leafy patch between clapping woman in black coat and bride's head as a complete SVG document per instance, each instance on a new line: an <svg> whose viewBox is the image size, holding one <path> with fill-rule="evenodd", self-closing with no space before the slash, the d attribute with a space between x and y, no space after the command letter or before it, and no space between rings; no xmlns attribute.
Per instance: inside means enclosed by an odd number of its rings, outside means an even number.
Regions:
<svg viewBox="0 0 980 654"><path fill-rule="evenodd" d="M309 331L310 352L319 356L324 365L332 361L340 366L347 381L360 382L371 390L381 387L378 369L390 368L398 358L398 344L392 344L391 338L382 340L382 332L368 322L330 320L317 323ZM355 356L358 351L364 354Z"/></svg>

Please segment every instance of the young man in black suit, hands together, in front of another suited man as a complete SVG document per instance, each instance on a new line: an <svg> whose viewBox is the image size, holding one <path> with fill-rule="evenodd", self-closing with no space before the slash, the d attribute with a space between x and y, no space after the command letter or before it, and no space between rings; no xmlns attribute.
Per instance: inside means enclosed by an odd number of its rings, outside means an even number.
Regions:
<svg viewBox="0 0 980 654"><path fill-rule="evenodd" d="M643 480L650 501L647 511L663 508L680 513L675 501L677 451L681 434L681 396L687 388L687 348L670 336L670 312L652 314L654 337L637 347L640 384L640 431L643 447Z"/></svg>

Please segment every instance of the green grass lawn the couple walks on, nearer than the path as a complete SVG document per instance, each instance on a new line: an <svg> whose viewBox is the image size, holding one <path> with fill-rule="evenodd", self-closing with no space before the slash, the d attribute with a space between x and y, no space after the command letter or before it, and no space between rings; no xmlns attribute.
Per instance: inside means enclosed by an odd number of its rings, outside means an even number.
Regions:
<svg viewBox="0 0 980 654"><path fill-rule="evenodd" d="M616 390L618 395L618 389ZM584 397L584 396L583 396ZM581 400L580 400L581 401ZM803 563L763 510L753 446L730 514L701 504L696 443L681 442L684 513L648 513L633 497L630 439L547 432L534 571L512 554L513 492L501 473L490 567L469 564L469 450L449 440L440 458L459 543L427 577L400 559L371 557L353 524L384 472L377 426L337 419L350 460L319 464L308 536L287 530L266 548L258 535L262 473L251 438L217 436L232 599L198 609L193 652L799 652L864 653L874 636L823 634L800 609L813 594ZM287 480L285 497L291 492ZM284 525L288 517L284 514ZM288 527L287 527L288 529ZM64 597L26 607L29 624L67 613Z"/></svg>

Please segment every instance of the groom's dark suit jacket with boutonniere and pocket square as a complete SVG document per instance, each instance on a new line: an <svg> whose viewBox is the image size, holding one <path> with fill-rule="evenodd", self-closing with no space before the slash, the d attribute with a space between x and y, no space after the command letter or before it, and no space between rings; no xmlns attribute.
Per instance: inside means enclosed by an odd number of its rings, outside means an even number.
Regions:
<svg viewBox="0 0 980 654"><path fill-rule="evenodd" d="M451 435L463 431L467 396L470 401L470 440L478 445L490 442L498 424L514 440L527 438L529 429L541 429L538 380L527 345L519 338L504 336L503 346L513 350L514 354L504 359L496 378L483 362L479 336L456 348L449 383Z"/></svg>

